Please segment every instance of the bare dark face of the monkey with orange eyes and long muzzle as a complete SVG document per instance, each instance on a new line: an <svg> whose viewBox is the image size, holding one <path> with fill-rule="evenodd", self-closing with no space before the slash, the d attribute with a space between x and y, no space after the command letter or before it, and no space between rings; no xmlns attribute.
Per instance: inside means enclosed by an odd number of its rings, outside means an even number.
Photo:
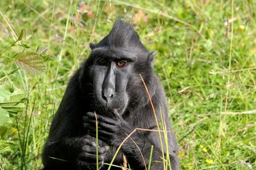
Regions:
<svg viewBox="0 0 256 170"><path fill-rule="evenodd" d="M105 110L122 114L128 103L126 92L133 62L128 58L95 57L94 99Z"/></svg>

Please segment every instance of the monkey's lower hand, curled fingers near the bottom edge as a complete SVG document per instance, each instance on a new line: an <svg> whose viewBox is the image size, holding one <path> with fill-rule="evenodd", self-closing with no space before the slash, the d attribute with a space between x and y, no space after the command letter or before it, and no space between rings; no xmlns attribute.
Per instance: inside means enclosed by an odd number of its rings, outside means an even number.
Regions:
<svg viewBox="0 0 256 170"><path fill-rule="evenodd" d="M76 166L79 168L96 168L96 147L98 148L98 165L99 169L103 166L105 153L109 150L109 146L99 147L96 143L87 138L78 138L73 143L74 156Z"/></svg>

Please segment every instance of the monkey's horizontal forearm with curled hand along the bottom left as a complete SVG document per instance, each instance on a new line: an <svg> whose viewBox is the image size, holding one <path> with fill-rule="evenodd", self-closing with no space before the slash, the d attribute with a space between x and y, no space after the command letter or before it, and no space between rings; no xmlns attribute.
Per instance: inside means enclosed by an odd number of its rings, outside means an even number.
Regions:
<svg viewBox="0 0 256 170"><path fill-rule="evenodd" d="M66 138L59 141L46 141L43 152L43 163L45 167L66 167L66 166L92 166L90 162L96 164L95 142L86 137ZM99 165L103 165L105 148L98 148ZM87 162L80 162L81 158L86 158Z"/></svg>

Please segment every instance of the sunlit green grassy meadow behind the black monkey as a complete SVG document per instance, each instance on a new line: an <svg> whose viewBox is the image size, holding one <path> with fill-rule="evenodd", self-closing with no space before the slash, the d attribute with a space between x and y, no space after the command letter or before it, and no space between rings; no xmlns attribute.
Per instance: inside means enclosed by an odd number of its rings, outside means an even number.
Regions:
<svg viewBox="0 0 256 170"><path fill-rule="evenodd" d="M0 81L26 93L35 85L27 109L13 120L18 130L5 139L16 144L0 155L0 169L43 167L40 154L67 82L87 58L88 44L106 36L118 16L133 21L141 41L158 51L155 71L166 90L182 169L256 169L255 9L254 0L235 0L234 7L231 0L1 0L15 34L26 28L23 42L31 50L43 45L57 59L43 76L19 70ZM0 16L0 51L13 37ZM7 66L0 77L16 69L11 59L0 63Z"/></svg>

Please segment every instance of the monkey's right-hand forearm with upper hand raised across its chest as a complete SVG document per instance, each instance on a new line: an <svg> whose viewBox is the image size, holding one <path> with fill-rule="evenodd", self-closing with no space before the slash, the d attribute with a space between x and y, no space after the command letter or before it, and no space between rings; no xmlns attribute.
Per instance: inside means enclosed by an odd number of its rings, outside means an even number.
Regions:
<svg viewBox="0 0 256 170"><path fill-rule="evenodd" d="M83 117L86 122L84 123L84 127L89 129L89 135L95 136L95 114L89 112L86 115L87 116ZM122 118L113 120L102 115L97 115L97 120L99 139L109 143L113 147L118 147L133 131L132 127L122 120ZM151 168L153 170L160 170L162 169L161 166L163 166L163 160L161 159L162 152L159 143L160 140L158 133L141 135L141 133L135 131L130 138L124 142L121 147L121 151L128 157L128 161L131 160L132 164L142 168L145 167L145 165L148 165L150 150L153 145L153 163ZM173 166L172 169L176 170Z"/></svg>

